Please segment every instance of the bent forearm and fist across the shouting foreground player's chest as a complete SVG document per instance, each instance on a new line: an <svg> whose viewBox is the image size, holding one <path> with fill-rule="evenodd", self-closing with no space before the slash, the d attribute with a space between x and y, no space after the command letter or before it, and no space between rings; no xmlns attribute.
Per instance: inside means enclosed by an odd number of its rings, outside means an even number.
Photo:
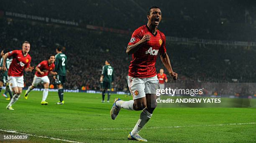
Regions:
<svg viewBox="0 0 256 143"><path fill-rule="evenodd" d="M127 49L126 49L126 54L133 54L135 53L140 47L141 45L145 44L146 42L150 41L151 35L144 35L143 38L137 42L136 44L133 45L128 45Z"/></svg>

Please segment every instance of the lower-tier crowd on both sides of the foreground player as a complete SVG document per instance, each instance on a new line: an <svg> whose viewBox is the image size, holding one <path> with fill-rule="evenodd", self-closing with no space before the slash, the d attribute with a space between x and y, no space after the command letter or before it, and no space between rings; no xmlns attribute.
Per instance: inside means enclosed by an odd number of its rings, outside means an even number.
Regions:
<svg viewBox="0 0 256 143"><path fill-rule="evenodd" d="M12 19L1 19L0 26L0 49L5 52L20 49L21 43L28 40L32 66L55 54L56 45L64 46L68 57L65 88L86 86L86 89L99 90L102 66L108 59L115 69L114 89L126 90L131 56L125 49L130 36ZM179 79L172 82L256 82L254 49L171 42L167 42L166 47L174 71L179 73ZM156 68L157 71L164 68L160 58ZM27 86L34 72L25 74ZM52 78L51 83L54 83Z"/></svg>

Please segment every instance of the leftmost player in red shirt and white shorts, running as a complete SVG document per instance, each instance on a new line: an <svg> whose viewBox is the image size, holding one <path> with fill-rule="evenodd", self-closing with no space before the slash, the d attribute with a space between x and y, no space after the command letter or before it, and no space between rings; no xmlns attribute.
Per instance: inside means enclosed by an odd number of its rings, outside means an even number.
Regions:
<svg viewBox="0 0 256 143"><path fill-rule="evenodd" d="M3 57L3 67L2 69L6 71L5 63L8 57L13 57L13 62L10 64L8 70L8 81L9 86L13 91L13 98L6 107L9 110L14 110L12 105L18 100L24 87L23 79L23 69L25 72L32 72L34 67L30 67L31 57L28 54L30 50L30 44L28 41L25 41L22 44L22 50L13 50L5 54Z"/></svg>

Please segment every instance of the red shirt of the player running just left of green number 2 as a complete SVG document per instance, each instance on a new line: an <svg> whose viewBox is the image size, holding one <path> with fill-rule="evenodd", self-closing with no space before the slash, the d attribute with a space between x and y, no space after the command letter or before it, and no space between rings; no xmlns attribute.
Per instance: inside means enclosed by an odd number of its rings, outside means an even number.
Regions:
<svg viewBox="0 0 256 143"><path fill-rule="evenodd" d="M38 64L36 67L38 67L41 72L44 72L44 74L42 75L36 71L36 76L43 77L43 76L47 76L49 74L49 72L54 70L55 64L52 63L51 65L49 65L48 61L45 60L45 61L42 61L40 64Z"/></svg>

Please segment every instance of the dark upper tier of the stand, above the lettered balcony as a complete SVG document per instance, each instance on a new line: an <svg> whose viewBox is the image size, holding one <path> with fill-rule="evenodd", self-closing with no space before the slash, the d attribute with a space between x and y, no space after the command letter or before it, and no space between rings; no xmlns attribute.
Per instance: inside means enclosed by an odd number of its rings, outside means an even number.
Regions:
<svg viewBox="0 0 256 143"><path fill-rule="evenodd" d="M163 13L160 28L174 37L254 41L256 7L241 0L1 0L0 10L19 12L133 32L146 24L148 7ZM22 6L23 8L20 8ZM110 15L111 13L111 15Z"/></svg>

